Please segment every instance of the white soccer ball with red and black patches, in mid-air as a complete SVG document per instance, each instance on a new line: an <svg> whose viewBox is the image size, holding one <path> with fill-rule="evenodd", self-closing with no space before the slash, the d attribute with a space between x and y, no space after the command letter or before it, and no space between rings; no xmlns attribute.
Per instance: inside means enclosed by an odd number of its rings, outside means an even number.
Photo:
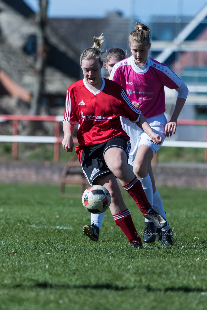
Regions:
<svg viewBox="0 0 207 310"><path fill-rule="evenodd" d="M99 214L105 212L109 208L111 196L105 187L93 185L84 191L82 202L88 212Z"/></svg>

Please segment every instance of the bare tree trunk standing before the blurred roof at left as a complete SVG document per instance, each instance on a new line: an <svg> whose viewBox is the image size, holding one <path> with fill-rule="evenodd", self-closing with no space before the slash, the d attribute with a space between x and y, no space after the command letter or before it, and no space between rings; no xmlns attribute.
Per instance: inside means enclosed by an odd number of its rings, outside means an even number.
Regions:
<svg viewBox="0 0 207 310"><path fill-rule="evenodd" d="M40 112L40 99L44 89L44 69L47 57L45 29L47 24L48 0L39 0L39 11L36 13L37 24L37 57L35 63L36 82L31 100L30 114L38 115Z"/></svg>

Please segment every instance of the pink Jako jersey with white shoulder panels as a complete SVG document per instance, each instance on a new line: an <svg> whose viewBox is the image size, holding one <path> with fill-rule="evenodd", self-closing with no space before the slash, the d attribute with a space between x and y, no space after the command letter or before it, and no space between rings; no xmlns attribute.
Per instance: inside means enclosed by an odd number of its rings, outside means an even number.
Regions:
<svg viewBox="0 0 207 310"><path fill-rule="evenodd" d="M165 64L148 57L143 73L136 69L133 56L115 64L110 80L119 83L129 99L140 103L140 111L145 118L165 112L164 86L170 89L180 87L182 81Z"/></svg>

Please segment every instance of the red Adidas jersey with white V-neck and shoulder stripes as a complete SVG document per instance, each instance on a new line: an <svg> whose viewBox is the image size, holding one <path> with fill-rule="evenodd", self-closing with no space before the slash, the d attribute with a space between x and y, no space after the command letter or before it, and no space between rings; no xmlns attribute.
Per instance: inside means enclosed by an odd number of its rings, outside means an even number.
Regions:
<svg viewBox="0 0 207 310"><path fill-rule="evenodd" d="M128 99L123 87L114 81L102 78L103 85L96 93L85 79L72 84L66 94L64 121L80 124L75 148L81 161L84 146L100 144L116 136L130 139L122 129L119 117L138 122L138 111Z"/></svg>

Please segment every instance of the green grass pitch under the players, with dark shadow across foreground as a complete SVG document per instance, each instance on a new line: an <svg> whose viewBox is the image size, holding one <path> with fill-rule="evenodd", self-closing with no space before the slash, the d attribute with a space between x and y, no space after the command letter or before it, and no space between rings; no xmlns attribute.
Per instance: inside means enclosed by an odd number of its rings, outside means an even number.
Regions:
<svg viewBox="0 0 207 310"><path fill-rule="evenodd" d="M0 184L0 309L205 309L207 192L159 191L174 246L134 249L109 210L95 243L82 234L90 214L81 198L60 197L58 186ZM141 232L144 218L124 197Z"/></svg>

